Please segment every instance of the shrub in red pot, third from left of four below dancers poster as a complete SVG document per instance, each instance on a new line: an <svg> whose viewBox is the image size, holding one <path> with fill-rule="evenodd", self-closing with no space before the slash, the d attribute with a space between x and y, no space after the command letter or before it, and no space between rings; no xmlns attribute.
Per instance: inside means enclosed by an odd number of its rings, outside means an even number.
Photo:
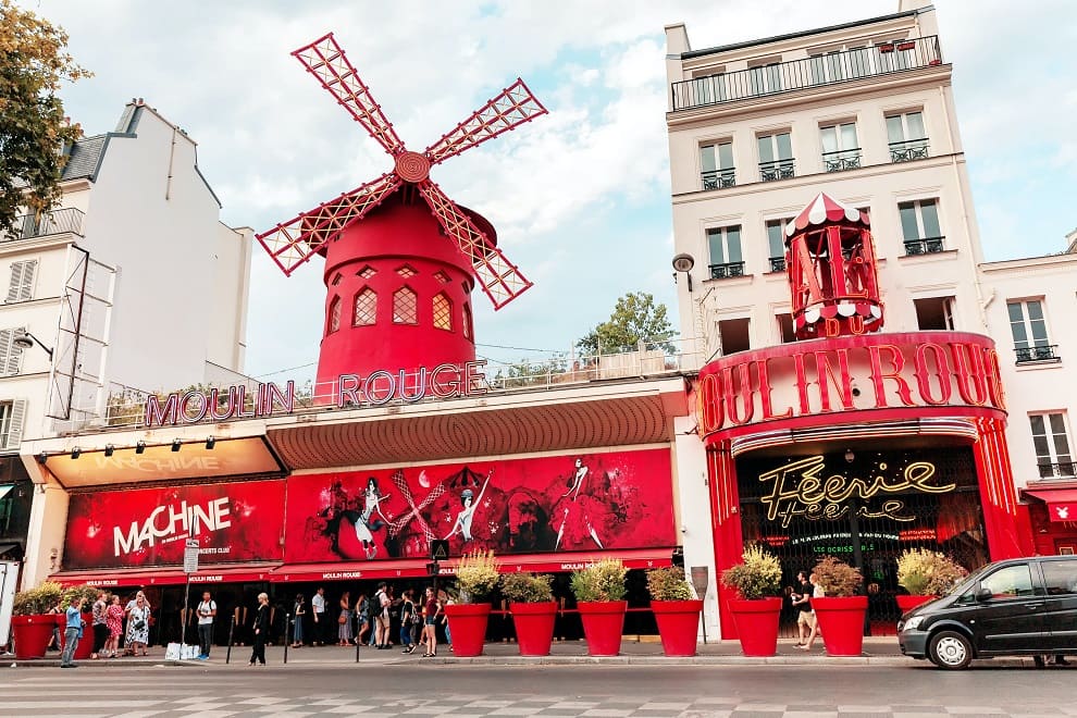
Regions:
<svg viewBox="0 0 1077 718"><path fill-rule="evenodd" d="M624 575L628 569L619 560L604 558L572 573L570 586L575 596L587 655L616 656L621 652L624 630Z"/></svg>

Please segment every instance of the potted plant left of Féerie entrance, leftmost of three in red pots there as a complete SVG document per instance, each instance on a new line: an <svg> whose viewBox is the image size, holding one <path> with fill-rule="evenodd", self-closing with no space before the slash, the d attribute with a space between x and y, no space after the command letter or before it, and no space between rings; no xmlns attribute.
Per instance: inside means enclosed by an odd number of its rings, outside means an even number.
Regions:
<svg viewBox="0 0 1077 718"><path fill-rule="evenodd" d="M760 546L748 546L741 562L721 572L721 582L736 592L729 601L736 635L745 656L778 653L778 619L781 615L781 564Z"/></svg>

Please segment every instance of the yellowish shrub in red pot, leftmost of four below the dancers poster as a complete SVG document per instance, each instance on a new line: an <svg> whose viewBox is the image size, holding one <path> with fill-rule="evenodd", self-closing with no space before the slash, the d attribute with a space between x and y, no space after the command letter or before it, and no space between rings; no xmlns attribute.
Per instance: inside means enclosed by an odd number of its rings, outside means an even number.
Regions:
<svg viewBox="0 0 1077 718"><path fill-rule="evenodd" d="M457 602L445 607L453 633L453 655L469 658L482 655L490 621L490 594L497 586L494 552L465 554L456 567Z"/></svg>

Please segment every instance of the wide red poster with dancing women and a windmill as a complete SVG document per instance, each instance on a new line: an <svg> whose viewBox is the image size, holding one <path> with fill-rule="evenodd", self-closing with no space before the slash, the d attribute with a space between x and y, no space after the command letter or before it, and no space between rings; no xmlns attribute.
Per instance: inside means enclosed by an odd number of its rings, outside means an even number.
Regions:
<svg viewBox="0 0 1077 718"><path fill-rule="evenodd" d="M668 448L290 476L285 560L665 547Z"/></svg>

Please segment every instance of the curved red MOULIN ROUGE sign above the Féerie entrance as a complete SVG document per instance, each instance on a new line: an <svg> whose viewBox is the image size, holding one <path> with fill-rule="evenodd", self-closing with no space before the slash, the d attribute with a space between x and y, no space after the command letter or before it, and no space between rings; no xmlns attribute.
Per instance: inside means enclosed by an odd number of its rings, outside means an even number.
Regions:
<svg viewBox="0 0 1077 718"><path fill-rule="evenodd" d="M700 372L696 400L704 436L866 409L1005 411L994 343L956 332L820 339L730 355Z"/></svg>

